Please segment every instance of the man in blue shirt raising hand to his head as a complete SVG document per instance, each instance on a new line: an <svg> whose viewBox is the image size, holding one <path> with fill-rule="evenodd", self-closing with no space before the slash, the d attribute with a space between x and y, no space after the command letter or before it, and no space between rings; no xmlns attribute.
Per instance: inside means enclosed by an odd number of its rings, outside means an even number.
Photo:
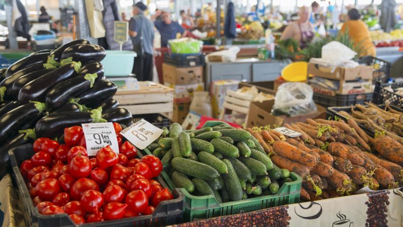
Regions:
<svg viewBox="0 0 403 227"><path fill-rule="evenodd" d="M168 40L176 39L176 34L180 33L182 36L185 30L179 25L178 22L171 20L171 14L162 12L162 21L154 22L155 27L161 35L161 47L168 46Z"/></svg>

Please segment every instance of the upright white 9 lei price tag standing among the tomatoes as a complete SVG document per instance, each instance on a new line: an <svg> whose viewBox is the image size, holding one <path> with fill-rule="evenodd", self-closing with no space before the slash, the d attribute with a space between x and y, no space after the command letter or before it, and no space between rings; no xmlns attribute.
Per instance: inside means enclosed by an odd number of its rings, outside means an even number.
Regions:
<svg viewBox="0 0 403 227"><path fill-rule="evenodd" d="M119 154L119 145L115 129L111 122L82 124L85 142L87 143L88 156L95 156L99 149L110 146L116 154Z"/></svg>

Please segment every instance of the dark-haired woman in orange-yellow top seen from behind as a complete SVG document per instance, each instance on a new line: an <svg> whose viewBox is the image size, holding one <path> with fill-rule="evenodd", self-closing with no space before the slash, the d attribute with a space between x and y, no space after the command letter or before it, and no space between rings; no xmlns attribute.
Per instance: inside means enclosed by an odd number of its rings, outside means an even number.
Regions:
<svg viewBox="0 0 403 227"><path fill-rule="evenodd" d="M348 32L350 39L352 39L358 49L361 50L360 56L371 55L375 57L375 46L371 41L367 26L360 18L361 15L357 9L349 10L347 13L347 21L343 24L340 32Z"/></svg>

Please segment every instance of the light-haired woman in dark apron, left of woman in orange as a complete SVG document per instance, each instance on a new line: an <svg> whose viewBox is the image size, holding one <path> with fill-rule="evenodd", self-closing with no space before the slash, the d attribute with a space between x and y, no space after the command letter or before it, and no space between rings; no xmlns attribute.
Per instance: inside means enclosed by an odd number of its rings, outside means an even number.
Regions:
<svg viewBox="0 0 403 227"><path fill-rule="evenodd" d="M309 9L307 7L299 8L298 17L297 21L287 26L280 40L294 39L298 41L301 48L305 48L315 36L312 25L308 20Z"/></svg>

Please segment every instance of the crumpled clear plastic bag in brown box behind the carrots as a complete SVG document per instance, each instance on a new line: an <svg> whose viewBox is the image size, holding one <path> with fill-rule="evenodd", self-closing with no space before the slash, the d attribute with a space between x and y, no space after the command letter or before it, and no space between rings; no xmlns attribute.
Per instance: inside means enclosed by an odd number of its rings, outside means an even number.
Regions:
<svg viewBox="0 0 403 227"><path fill-rule="evenodd" d="M306 83L283 83L277 90L272 114L293 117L316 112L317 108L312 96L313 90Z"/></svg>

